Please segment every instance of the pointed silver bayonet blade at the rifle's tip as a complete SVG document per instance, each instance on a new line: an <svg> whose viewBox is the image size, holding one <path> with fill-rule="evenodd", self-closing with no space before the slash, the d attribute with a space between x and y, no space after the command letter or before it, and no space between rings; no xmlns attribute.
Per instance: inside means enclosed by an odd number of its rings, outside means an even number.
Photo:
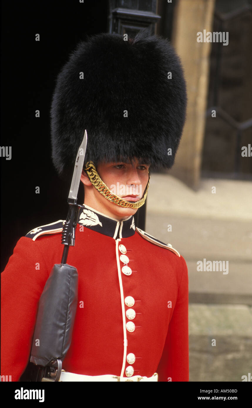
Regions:
<svg viewBox="0 0 252 408"><path fill-rule="evenodd" d="M79 147L76 160L75 160L75 165L74 165L74 174L71 182L71 187L69 191L69 196L68 196L68 202L76 202L77 200L77 194L80 186L80 176L82 173L83 169L83 164L85 160L85 154L86 154L86 149L87 149L87 131L85 130L83 141L81 142L81 145Z"/></svg>

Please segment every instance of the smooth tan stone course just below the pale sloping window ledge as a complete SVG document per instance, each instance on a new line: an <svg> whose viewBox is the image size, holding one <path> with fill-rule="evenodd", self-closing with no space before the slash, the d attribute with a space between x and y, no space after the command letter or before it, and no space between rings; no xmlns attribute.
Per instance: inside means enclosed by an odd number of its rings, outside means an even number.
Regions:
<svg viewBox="0 0 252 408"><path fill-rule="evenodd" d="M170 232L168 225L172 226ZM185 259L227 259L252 264L252 221L209 220L148 210L145 229L172 244Z"/></svg>

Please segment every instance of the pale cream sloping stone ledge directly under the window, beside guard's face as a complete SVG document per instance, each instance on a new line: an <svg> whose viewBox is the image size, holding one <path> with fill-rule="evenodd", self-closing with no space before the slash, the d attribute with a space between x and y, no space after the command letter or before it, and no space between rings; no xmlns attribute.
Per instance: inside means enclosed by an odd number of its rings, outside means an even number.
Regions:
<svg viewBox="0 0 252 408"><path fill-rule="evenodd" d="M202 179L194 191L169 174L150 177L147 210L156 214L252 222L251 203L251 181Z"/></svg>

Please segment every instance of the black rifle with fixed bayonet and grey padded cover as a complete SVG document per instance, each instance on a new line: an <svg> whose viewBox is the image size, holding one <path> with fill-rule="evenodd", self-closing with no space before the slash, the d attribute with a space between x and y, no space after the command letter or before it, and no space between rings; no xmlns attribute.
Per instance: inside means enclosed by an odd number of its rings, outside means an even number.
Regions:
<svg viewBox="0 0 252 408"><path fill-rule="evenodd" d="M62 361L71 344L78 297L78 271L67 264L69 246L75 245L75 230L80 208L77 194L87 147L87 131L76 156L68 196L69 210L63 227L64 245L60 264L55 264L38 305L30 362L20 381L59 381ZM39 340L39 346L38 344ZM27 372L28 379L27 379Z"/></svg>

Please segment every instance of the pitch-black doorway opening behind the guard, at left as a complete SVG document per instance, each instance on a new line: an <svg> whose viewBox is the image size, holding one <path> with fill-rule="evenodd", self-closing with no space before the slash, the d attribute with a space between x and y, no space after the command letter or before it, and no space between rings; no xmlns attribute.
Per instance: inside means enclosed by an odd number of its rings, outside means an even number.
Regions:
<svg viewBox="0 0 252 408"><path fill-rule="evenodd" d="M106 0L2 2L1 146L11 146L11 160L1 157L2 269L21 236L67 215L69 185L51 162L51 97L76 44L108 31L108 13Z"/></svg>

